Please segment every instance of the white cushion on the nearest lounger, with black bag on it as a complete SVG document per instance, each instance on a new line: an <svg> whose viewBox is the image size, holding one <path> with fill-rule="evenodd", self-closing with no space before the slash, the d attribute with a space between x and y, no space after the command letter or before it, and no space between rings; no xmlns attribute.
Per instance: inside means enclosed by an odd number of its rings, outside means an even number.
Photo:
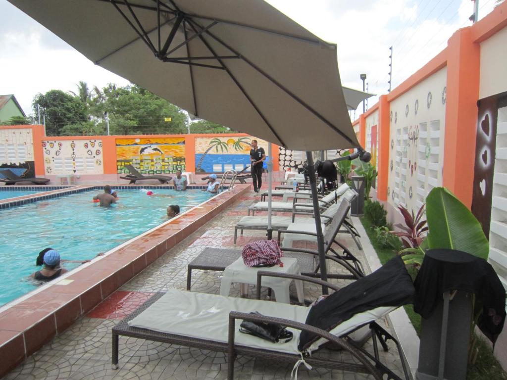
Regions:
<svg viewBox="0 0 507 380"><path fill-rule="evenodd" d="M175 307L176 305L177 307ZM337 336L343 335L358 326L386 315L394 309L396 307L380 307L356 314L331 330L331 333ZM305 323L310 308L278 302L274 305L272 301L169 289L165 295L129 321L128 324L132 327L227 343L228 321L231 311L242 313L258 311L266 316ZM299 330L288 328L293 332L294 338L287 343L271 343L239 332L240 323L239 320L236 321L235 342L237 345L299 354ZM312 344L310 350L317 349L324 342L325 340L316 341Z"/></svg>

